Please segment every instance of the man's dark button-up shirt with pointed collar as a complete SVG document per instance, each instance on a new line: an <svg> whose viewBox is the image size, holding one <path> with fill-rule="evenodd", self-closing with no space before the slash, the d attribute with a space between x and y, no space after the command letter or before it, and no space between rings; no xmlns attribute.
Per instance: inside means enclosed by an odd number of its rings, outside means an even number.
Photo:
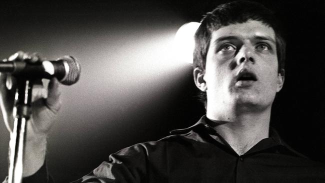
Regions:
<svg viewBox="0 0 325 183"><path fill-rule="evenodd" d="M237 155L208 123L203 116L170 136L126 147L74 182L325 182L325 165L291 149L274 130ZM47 179L43 166L24 182Z"/></svg>

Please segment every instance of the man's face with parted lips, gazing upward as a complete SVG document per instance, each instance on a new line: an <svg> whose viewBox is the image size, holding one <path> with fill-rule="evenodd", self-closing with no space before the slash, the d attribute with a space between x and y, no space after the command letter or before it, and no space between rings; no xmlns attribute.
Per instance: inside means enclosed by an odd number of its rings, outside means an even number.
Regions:
<svg viewBox="0 0 325 183"><path fill-rule="evenodd" d="M283 84L274 30L260 21L230 24L212 32L203 80L207 110L231 105L270 107Z"/></svg>

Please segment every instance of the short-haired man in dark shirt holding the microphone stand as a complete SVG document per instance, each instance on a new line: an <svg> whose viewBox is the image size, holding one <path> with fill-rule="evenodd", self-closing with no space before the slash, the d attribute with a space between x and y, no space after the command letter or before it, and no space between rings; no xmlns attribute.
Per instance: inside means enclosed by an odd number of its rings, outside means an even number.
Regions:
<svg viewBox="0 0 325 183"><path fill-rule="evenodd" d="M111 154L75 182L324 182L323 164L295 152L269 128L284 82L284 41L270 10L248 1L219 5L202 19L195 42L194 82L206 96L206 115L158 141ZM5 100L12 95L1 87L8 121L12 104ZM24 182L52 182L44 159L60 106L56 79L48 89L27 126Z"/></svg>

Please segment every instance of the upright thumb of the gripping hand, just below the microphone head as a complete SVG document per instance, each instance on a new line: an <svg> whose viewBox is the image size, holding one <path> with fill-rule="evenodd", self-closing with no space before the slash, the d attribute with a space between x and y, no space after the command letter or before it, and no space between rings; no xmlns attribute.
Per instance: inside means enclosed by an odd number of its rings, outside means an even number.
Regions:
<svg viewBox="0 0 325 183"><path fill-rule="evenodd" d="M59 82L55 77L53 77L48 83L47 98L45 103L47 107L54 112L57 112L61 107L59 98L60 94Z"/></svg>

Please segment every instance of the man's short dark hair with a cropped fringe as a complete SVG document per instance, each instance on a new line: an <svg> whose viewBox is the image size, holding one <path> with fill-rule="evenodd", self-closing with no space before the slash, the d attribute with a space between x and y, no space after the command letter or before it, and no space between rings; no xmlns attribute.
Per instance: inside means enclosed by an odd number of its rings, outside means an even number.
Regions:
<svg viewBox="0 0 325 183"><path fill-rule="evenodd" d="M205 70L206 54L213 31L229 24L244 23L248 20L260 21L273 28L275 32L278 72L284 75L285 41L281 36L273 11L264 5L245 0L233 1L218 5L207 12L195 32L195 47L193 51L193 68ZM200 100L206 107L206 93L200 91Z"/></svg>

